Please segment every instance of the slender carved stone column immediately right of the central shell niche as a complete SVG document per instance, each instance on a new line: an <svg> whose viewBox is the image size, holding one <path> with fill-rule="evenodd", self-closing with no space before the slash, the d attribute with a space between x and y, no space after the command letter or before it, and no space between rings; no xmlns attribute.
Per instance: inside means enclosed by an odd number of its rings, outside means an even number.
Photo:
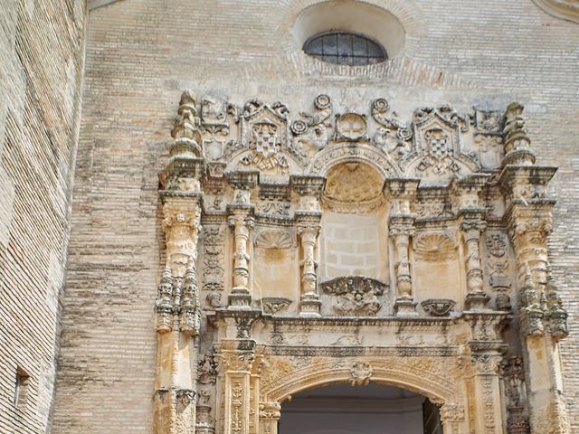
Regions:
<svg viewBox="0 0 579 434"><path fill-rule="evenodd" d="M416 198L417 179L390 179L386 181L384 193L391 202L388 219L388 233L394 243L394 276L396 279L396 300L394 314L415 316L417 302L413 296L413 278L409 251L414 235L416 214L411 212L411 203Z"/></svg>

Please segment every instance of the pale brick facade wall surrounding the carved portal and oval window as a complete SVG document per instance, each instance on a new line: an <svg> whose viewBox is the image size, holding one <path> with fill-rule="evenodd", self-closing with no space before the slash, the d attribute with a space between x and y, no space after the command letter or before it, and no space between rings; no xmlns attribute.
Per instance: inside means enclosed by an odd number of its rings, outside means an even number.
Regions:
<svg viewBox="0 0 579 434"><path fill-rule="evenodd" d="M565 392L579 399L579 157L574 140L577 24L531 0L375 0L406 29L403 52L365 73L320 67L290 33L311 0L124 0L90 14L85 99L53 432L151 432L162 234L157 173L181 90L293 112L327 93L337 112L387 98L401 118L423 105L527 106L541 164L559 166L555 274L571 314ZM579 413L570 406L579 429Z"/></svg>

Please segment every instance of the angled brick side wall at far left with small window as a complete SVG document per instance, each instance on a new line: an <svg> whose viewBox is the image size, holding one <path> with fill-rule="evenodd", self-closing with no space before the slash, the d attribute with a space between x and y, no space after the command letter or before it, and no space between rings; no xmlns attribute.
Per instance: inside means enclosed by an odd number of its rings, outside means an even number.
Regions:
<svg viewBox="0 0 579 434"><path fill-rule="evenodd" d="M0 432L49 424L79 131L85 6L0 2ZM16 372L28 374L14 405Z"/></svg>

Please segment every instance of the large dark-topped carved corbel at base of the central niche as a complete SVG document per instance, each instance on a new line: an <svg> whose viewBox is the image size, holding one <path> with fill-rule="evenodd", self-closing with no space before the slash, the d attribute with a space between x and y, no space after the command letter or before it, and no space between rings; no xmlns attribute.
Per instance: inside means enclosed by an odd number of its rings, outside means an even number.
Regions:
<svg viewBox="0 0 579 434"><path fill-rule="evenodd" d="M321 284L334 300L334 312L342 316L375 316L382 307L378 296L388 287L374 278L347 276L334 278Z"/></svg>

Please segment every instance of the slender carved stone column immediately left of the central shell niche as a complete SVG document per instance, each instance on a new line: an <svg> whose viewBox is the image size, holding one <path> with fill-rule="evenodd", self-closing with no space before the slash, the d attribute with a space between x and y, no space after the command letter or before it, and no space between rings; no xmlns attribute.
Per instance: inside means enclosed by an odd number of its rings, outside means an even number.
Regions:
<svg viewBox="0 0 579 434"><path fill-rule="evenodd" d="M325 179L320 176L293 175L290 183L299 193L295 212L301 241L301 296L299 316L319 316L321 302L318 294L318 235L321 211L319 198Z"/></svg>

